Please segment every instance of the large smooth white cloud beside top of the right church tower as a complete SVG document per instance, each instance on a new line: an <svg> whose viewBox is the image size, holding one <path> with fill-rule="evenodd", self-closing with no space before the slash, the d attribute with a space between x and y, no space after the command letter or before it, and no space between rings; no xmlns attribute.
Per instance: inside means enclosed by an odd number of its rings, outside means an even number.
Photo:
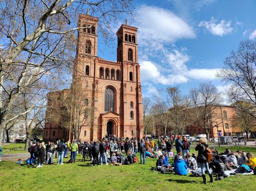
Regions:
<svg viewBox="0 0 256 191"><path fill-rule="evenodd" d="M138 39L154 42L154 46L161 47L161 43L196 37L193 28L171 11L143 5L136 10L135 15L136 26L139 28Z"/></svg>

